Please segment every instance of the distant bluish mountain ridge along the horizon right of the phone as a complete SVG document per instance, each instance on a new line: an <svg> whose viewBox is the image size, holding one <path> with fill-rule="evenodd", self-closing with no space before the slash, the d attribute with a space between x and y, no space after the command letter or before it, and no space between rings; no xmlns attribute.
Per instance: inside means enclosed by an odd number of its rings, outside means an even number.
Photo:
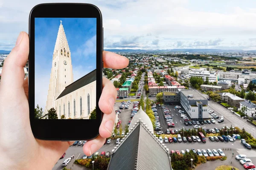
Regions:
<svg viewBox="0 0 256 170"><path fill-rule="evenodd" d="M239 53L239 52L255 52L256 50L239 50L239 49L185 49L185 48L177 48L177 49L166 49L166 50L143 50L143 49L107 49L107 51L112 52L220 52L220 53Z"/></svg>

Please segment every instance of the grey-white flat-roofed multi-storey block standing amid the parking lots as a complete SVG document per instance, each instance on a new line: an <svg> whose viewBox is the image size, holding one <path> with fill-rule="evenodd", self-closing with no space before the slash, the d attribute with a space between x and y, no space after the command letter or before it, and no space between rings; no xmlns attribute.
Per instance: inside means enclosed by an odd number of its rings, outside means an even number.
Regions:
<svg viewBox="0 0 256 170"><path fill-rule="evenodd" d="M191 119L208 119L208 100L192 89L180 90L180 104Z"/></svg>

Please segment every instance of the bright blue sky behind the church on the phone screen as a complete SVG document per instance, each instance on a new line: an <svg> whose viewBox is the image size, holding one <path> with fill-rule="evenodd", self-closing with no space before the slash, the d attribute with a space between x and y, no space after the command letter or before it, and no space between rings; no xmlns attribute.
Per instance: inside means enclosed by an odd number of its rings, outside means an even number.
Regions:
<svg viewBox="0 0 256 170"><path fill-rule="evenodd" d="M73 80L96 69L96 18L35 19L35 106L46 105L60 20L70 48Z"/></svg>

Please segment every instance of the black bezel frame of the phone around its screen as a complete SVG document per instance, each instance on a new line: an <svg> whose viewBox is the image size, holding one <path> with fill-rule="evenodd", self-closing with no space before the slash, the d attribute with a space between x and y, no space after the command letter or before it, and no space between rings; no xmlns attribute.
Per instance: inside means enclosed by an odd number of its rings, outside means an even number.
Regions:
<svg viewBox="0 0 256 170"><path fill-rule="evenodd" d="M63 12L68 11L68 12ZM35 119L35 18L96 18L96 119ZM87 3L44 3L35 6L29 15L29 118L37 139L76 141L94 139L99 135L102 111L102 14ZM57 35L56 35L57 36ZM47 94L46 94L47 95Z"/></svg>

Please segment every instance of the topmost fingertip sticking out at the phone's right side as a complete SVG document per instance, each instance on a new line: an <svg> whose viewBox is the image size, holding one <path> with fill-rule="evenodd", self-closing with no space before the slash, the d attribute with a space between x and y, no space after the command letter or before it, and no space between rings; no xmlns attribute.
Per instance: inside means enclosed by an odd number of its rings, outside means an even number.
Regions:
<svg viewBox="0 0 256 170"><path fill-rule="evenodd" d="M121 69L129 64L129 59L110 51L103 51L104 68Z"/></svg>

